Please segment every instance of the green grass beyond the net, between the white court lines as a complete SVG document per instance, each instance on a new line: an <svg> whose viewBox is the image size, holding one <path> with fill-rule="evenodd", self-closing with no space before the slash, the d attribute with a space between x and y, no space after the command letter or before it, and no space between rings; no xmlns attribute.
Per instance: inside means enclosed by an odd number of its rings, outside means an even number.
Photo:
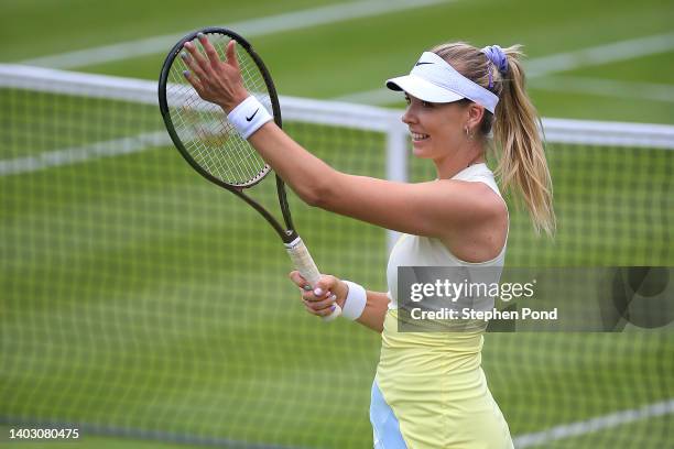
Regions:
<svg viewBox="0 0 674 449"><path fill-rule="evenodd" d="M128 0L95 8L80 1L6 2L2 28L4 45L0 61L15 62L97 45L112 44L157 34L172 34L208 24L274 15L328 2L293 0L252 2L204 1L185 10L182 2L151 1L135 8ZM67 11L67 12L66 12ZM133 20L129 19L133 12ZM54 20L58 18L58 20ZM343 21L280 34L253 37L281 94L334 98L383 86L383 80L406 72L422 50L441 42L464 40L476 45L499 43L524 45L535 59L671 31L674 7L667 2L540 2L519 0L455 1L401 13ZM42 33L25 32L50 29ZM95 66L86 72L156 79L168 51ZM624 62L586 66L555 76L591 76L634 83L671 85L670 53ZM541 114L672 123L674 105L653 100L615 99L584 94L532 90ZM392 94L392 103L395 102Z"/></svg>

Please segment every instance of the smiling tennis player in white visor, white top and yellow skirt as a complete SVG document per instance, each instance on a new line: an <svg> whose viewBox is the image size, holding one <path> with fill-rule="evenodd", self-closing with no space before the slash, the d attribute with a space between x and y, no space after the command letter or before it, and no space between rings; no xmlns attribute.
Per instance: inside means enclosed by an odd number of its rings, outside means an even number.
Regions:
<svg viewBox="0 0 674 449"><path fill-rule="evenodd" d="M202 44L209 57L192 48L187 79L230 120L250 117L258 106L246 106L251 100L233 44L227 62L214 61L209 44ZM480 366L483 328L399 332L396 269L503 266L509 215L486 165L488 147L497 152L502 186L523 199L535 229L554 232L552 183L520 57L519 46L444 44L424 52L409 75L387 81L405 94L402 121L414 155L435 164L434 180L404 184L337 172L273 121L249 138L307 204L403 233L389 259L389 292L328 275L312 291L291 273L311 314L329 315L336 302L344 317L382 333L370 406L376 448L512 448Z"/></svg>

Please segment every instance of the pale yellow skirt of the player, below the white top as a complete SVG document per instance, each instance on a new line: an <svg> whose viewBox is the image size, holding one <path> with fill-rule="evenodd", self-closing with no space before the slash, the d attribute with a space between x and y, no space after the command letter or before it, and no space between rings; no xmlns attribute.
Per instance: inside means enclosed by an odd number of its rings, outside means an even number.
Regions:
<svg viewBox="0 0 674 449"><path fill-rule="evenodd" d="M384 320L376 382L410 449L510 449L510 430L480 366L474 332L398 332Z"/></svg>

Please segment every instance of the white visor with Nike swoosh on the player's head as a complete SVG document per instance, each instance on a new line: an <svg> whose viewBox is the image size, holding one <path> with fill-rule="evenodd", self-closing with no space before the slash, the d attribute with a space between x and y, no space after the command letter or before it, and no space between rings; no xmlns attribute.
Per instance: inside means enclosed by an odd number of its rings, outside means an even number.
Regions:
<svg viewBox="0 0 674 449"><path fill-rule="evenodd" d="M428 102L453 102L468 98L494 113L499 97L456 72L445 59L424 52L410 75L387 80L391 90L404 90L412 97Z"/></svg>

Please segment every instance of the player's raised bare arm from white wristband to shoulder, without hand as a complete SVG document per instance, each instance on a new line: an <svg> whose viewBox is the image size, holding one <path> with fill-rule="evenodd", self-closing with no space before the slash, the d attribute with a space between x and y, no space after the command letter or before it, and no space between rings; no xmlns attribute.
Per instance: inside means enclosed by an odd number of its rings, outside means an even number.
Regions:
<svg viewBox="0 0 674 449"><path fill-rule="evenodd" d="M273 122L260 128L249 141L308 205L387 229L447 236L448 230L493 213L491 191L481 183L446 179L410 184L341 173Z"/></svg>

